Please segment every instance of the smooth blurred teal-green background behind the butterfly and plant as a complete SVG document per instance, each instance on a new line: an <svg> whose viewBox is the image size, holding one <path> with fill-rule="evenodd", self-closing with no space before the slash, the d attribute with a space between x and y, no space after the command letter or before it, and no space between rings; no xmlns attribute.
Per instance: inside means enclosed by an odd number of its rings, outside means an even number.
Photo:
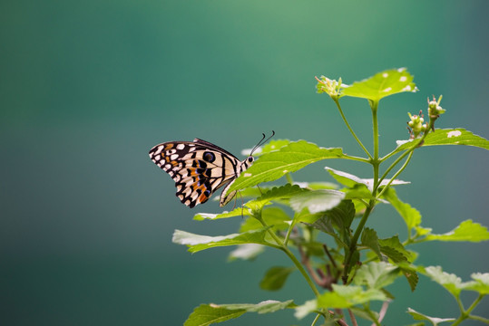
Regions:
<svg viewBox="0 0 489 326"><path fill-rule="evenodd" d="M182 229L226 235L241 219L195 222L171 178L148 158L169 140L210 140L240 156L274 129L360 154L334 103L315 92L316 75L344 82L407 67L419 92L381 101L383 153L406 139L407 111L444 95L438 128L485 138L489 87L489 3L480 1L3 1L0 4L0 322L4 325L181 325L202 302L297 303L312 293L296 274L281 292L259 280L267 252L226 263L230 248L189 254L171 243ZM344 110L370 143L367 102ZM331 181L320 162L294 178ZM420 149L398 194L424 225L445 233L487 218L483 149ZM368 225L406 235L381 206ZM418 245L418 264L441 264L464 280L487 272L489 244ZM455 301L421 277L396 295L386 325L414 322L409 306L454 317ZM465 299L474 297L467 295ZM489 304L478 313L489 317ZM485 310L485 311L484 311ZM292 312L248 314L230 325L309 325ZM474 325L474 323L466 323Z"/></svg>

